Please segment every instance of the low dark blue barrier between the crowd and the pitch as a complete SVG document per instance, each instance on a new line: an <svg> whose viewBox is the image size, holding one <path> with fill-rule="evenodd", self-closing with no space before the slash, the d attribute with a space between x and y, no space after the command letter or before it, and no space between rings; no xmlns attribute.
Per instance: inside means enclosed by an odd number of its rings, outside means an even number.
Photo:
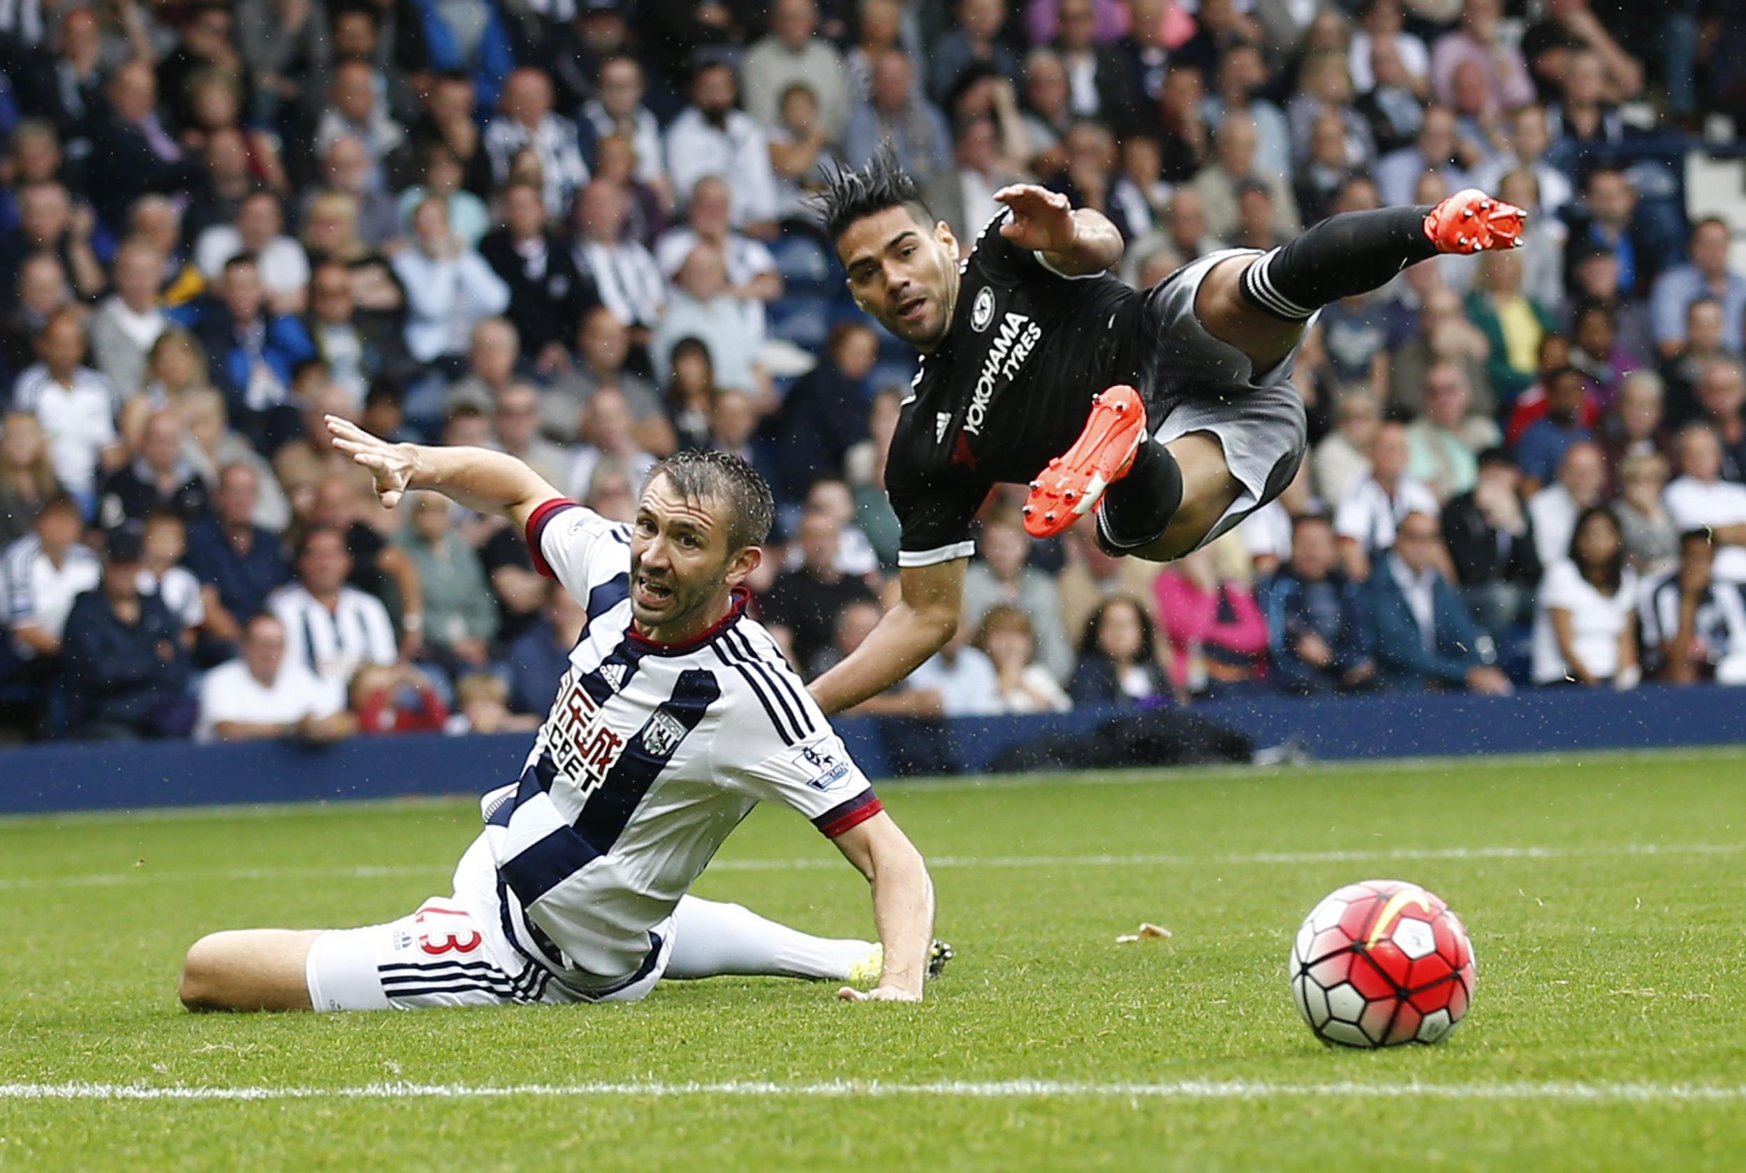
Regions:
<svg viewBox="0 0 1746 1173"><path fill-rule="evenodd" d="M1198 702L1193 712L1241 730L1259 747L1294 740L1318 759L1746 744L1746 688L1257 695ZM1091 735L1112 716L1110 709L1083 709L962 717L929 740L946 756L936 758L941 772L974 775L1014 745ZM903 721L849 719L838 728L875 779L892 777L917 737ZM0 749L0 813L480 794L520 775L529 744L529 735L405 735L327 749L278 742L21 745Z"/></svg>

